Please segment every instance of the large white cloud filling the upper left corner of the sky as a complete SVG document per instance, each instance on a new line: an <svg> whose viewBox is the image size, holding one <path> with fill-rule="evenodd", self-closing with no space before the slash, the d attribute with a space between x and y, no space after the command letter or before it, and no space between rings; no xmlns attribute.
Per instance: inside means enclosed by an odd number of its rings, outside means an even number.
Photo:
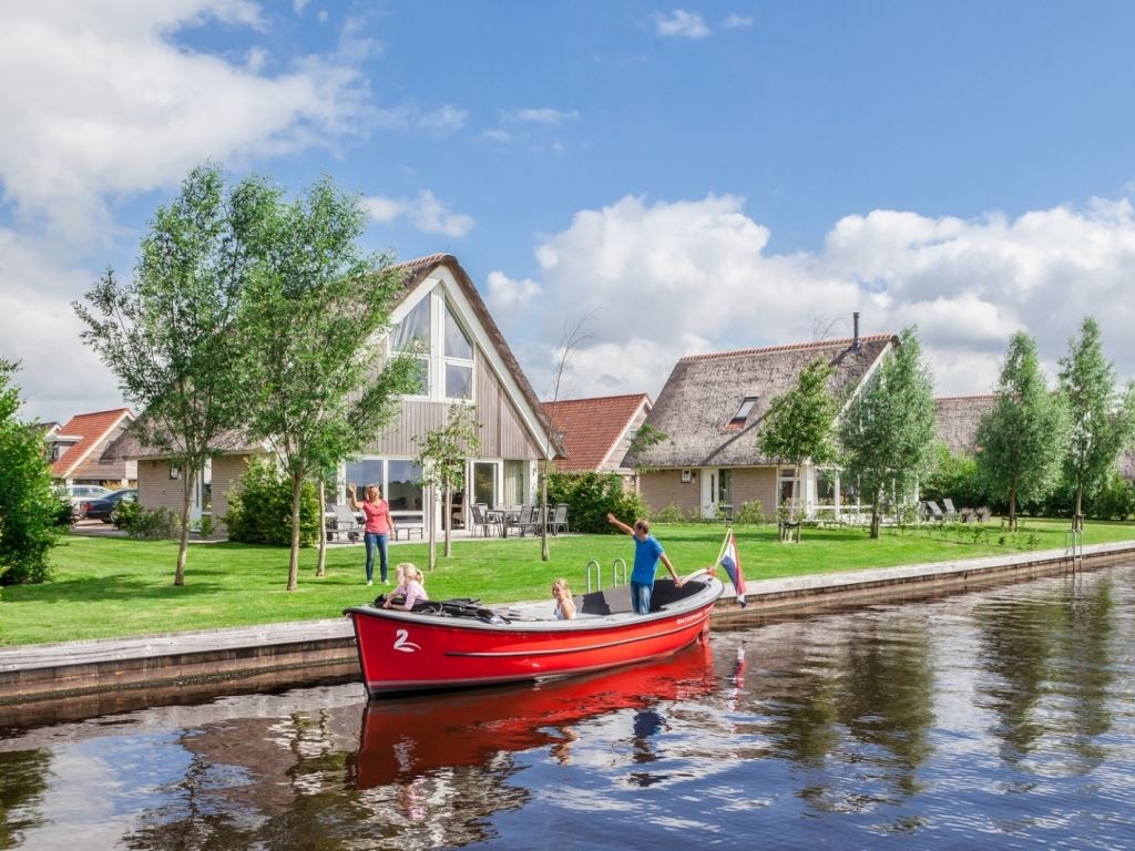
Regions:
<svg viewBox="0 0 1135 851"><path fill-rule="evenodd" d="M7 3L0 7L0 182L22 217L86 236L108 199L227 161L326 143L362 123L365 84L342 58L276 76L175 44L215 19L259 28L254 3Z"/></svg>

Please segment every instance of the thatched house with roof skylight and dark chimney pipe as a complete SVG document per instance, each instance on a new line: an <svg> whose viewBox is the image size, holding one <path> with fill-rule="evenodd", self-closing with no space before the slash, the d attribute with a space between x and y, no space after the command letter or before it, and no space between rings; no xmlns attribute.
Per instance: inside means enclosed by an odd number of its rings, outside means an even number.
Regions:
<svg viewBox="0 0 1135 851"><path fill-rule="evenodd" d="M794 466L757 448L773 399L822 357L833 368L829 387L844 405L896 345L898 337L890 334L860 337L857 314L851 338L683 357L646 419L666 439L624 464L648 470L640 488L654 512L674 505L687 516L731 516L743 503L759 500L768 514L791 498L796 480ZM800 497L809 513L857 502L836 470L810 464L800 470Z"/></svg>

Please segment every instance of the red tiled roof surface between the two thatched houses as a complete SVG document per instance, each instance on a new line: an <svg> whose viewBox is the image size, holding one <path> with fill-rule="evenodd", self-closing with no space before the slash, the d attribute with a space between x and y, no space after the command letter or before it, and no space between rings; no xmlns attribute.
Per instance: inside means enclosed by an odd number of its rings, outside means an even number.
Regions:
<svg viewBox="0 0 1135 851"><path fill-rule="evenodd" d="M544 410L557 431L564 435L566 458L556 461L557 470L598 470L608 461L639 407L650 398L645 393L628 396L602 396L590 399L545 402ZM621 458L615 458L617 466Z"/></svg>

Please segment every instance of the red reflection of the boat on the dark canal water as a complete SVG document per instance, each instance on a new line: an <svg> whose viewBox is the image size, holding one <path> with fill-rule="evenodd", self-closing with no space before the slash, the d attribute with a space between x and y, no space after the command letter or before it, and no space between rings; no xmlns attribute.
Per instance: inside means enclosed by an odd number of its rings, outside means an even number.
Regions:
<svg viewBox="0 0 1135 851"><path fill-rule="evenodd" d="M543 747L563 761L575 724L625 709L650 713L659 702L717 689L705 638L667 659L591 676L372 700L363 711L359 751L348 761L351 782L356 789L405 783Z"/></svg>

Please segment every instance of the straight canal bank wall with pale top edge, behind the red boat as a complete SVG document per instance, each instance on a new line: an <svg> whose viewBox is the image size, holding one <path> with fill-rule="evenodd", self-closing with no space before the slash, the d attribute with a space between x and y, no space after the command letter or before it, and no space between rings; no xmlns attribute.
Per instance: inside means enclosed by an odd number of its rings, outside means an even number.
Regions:
<svg viewBox="0 0 1135 851"><path fill-rule="evenodd" d="M1076 562L1065 550L1044 550L749 581L748 605L742 609L730 593L718 601L712 622L743 626L1133 561L1135 541L1121 541L1084 547L1083 558ZM205 689L216 694L229 689L244 691L257 683L300 685L328 677L350 679L356 672L354 635L343 617L0 648L0 719L45 701L132 691L160 693L168 701L170 694L188 696ZM99 706L104 705L103 697Z"/></svg>

